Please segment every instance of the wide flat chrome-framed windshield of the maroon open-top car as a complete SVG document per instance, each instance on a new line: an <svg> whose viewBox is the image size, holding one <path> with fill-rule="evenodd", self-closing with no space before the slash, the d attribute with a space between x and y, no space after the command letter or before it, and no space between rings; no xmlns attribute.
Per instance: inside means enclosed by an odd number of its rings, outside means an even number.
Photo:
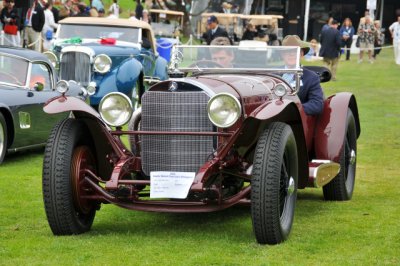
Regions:
<svg viewBox="0 0 400 266"><path fill-rule="evenodd" d="M300 48L291 46L175 46L171 69L179 71L300 70Z"/></svg>

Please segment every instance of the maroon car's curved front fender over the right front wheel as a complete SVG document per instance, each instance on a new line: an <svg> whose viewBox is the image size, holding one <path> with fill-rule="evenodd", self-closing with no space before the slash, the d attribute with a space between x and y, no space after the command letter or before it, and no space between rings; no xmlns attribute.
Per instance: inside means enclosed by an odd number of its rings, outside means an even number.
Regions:
<svg viewBox="0 0 400 266"><path fill-rule="evenodd" d="M268 124L283 122L293 130L296 138L299 165L299 188L307 186L308 182L308 154L306 140L303 131L300 111L295 102L287 99L267 102L254 110L243 122L242 132L235 146L239 154L251 154L254 152L260 135ZM251 157L251 156L250 156Z"/></svg>

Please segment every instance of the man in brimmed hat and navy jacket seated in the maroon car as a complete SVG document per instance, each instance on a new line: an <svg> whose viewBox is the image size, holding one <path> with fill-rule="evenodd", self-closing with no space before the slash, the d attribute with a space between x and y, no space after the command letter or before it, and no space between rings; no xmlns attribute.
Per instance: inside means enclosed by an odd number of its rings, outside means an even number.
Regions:
<svg viewBox="0 0 400 266"><path fill-rule="evenodd" d="M310 49L309 43L303 42L297 35L287 35L282 41L282 46L299 46L302 48L302 57ZM282 58L287 67L293 67L297 62L297 56L291 52L283 51ZM285 75L283 75L283 78L291 84L294 76L285 77ZM303 76L301 77L300 89L297 95L307 115L319 115L322 112L324 107L324 93L322 92L319 76L316 73L303 68Z"/></svg>

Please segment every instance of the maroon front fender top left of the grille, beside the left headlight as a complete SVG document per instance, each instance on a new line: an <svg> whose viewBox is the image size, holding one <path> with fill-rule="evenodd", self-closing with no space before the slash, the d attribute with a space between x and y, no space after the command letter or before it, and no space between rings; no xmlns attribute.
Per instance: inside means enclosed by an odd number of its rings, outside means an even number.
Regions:
<svg viewBox="0 0 400 266"><path fill-rule="evenodd" d="M48 100L43 111L48 114L58 114L62 112L79 111L91 114L100 119L99 113L96 112L90 105L73 96L58 96Z"/></svg>

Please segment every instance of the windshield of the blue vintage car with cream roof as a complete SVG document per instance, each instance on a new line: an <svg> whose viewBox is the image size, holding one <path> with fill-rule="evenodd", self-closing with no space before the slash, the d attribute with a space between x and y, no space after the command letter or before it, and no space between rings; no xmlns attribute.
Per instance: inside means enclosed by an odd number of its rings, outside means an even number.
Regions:
<svg viewBox="0 0 400 266"><path fill-rule="evenodd" d="M118 41L138 43L139 29L104 25L62 24L59 28L57 37L60 39L69 39L74 37L84 39L114 38Z"/></svg>

